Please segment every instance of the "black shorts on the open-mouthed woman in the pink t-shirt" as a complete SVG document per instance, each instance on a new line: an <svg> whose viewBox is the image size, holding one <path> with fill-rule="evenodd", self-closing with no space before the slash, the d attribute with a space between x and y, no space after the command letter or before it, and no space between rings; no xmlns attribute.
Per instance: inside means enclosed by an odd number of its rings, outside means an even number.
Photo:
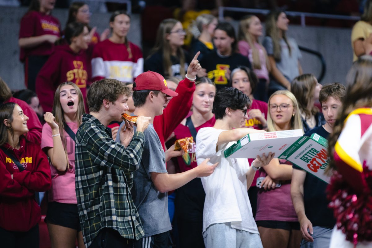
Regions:
<svg viewBox="0 0 372 248"><path fill-rule="evenodd" d="M44 221L81 231L77 204L49 202Z"/></svg>

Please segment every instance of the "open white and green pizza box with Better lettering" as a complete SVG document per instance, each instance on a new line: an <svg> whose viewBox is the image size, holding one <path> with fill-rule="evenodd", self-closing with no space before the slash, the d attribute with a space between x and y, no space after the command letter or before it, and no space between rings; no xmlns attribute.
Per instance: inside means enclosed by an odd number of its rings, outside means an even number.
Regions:
<svg viewBox="0 0 372 248"><path fill-rule="evenodd" d="M293 164L329 183L324 174L330 158L327 154L327 140L314 133L302 136L302 129L266 133L250 133L236 144L227 148L225 158L256 158L264 152L275 152L275 158L291 161Z"/></svg>

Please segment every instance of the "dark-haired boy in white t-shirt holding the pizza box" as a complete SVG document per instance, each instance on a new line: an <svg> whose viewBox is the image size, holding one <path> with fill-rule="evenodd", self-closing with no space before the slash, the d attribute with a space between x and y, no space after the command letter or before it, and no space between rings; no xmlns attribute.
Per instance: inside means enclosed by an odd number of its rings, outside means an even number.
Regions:
<svg viewBox="0 0 372 248"><path fill-rule="evenodd" d="M248 96L237 88L222 88L213 102L215 125L201 128L196 135L198 164L205 158L210 158L210 163L219 163L214 174L201 178L206 194L203 211L205 247L262 248L247 190L256 171L269 164L274 154L257 156L251 165L246 158L224 157L225 148L233 144L230 142L236 142L248 133L265 132L240 128L250 105Z"/></svg>

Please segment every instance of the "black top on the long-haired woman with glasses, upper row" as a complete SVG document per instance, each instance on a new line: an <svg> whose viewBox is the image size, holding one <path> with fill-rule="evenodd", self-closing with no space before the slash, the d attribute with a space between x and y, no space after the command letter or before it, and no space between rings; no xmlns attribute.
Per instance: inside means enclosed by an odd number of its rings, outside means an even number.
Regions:
<svg viewBox="0 0 372 248"><path fill-rule="evenodd" d="M185 64L183 65L185 67L185 74L187 71L187 67L189 66L191 62L191 58L188 52L183 50L185 54ZM180 59L176 56L171 56L170 60L172 62L172 74L168 75L168 71L166 72L164 70L163 66L163 51L157 51L153 55L151 55L149 58L145 59L144 62L144 71L155 71L156 73L159 73L163 77L178 77L178 78L185 78L185 75L181 75L181 65L180 65Z"/></svg>

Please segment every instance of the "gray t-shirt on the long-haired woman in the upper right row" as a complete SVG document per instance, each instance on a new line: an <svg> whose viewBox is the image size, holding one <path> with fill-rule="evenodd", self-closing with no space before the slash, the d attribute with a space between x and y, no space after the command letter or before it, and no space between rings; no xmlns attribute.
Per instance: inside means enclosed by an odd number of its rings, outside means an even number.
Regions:
<svg viewBox="0 0 372 248"><path fill-rule="evenodd" d="M299 75L298 71L298 59L302 57L298 45L293 38L287 38L288 44L291 46L291 55L289 55L289 49L284 39L280 39L280 47L282 49L282 59L276 61L276 67L285 76L289 82L294 80ZM267 51L267 55L274 55L273 39L270 36L266 36L263 39L262 45Z"/></svg>

